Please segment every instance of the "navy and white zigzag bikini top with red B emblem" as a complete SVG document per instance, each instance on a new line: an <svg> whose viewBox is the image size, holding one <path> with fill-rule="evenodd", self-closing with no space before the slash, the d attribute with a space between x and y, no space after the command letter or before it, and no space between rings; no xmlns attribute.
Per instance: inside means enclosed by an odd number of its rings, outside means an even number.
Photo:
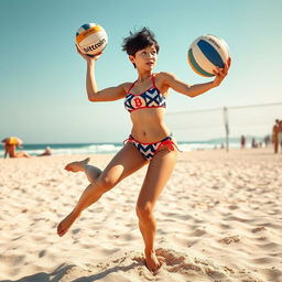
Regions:
<svg viewBox="0 0 282 282"><path fill-rule="evenodd" d="M139 109L144 109L144 108L166 108L166 99L161 94L161 91L156 88L154 84L153 75L152 75L152 86L142 94L137 95L137 94L130 93L130 90L132 89L135 83L137 82L134 82L130 86L124 99L124 108L129 112L139 110Z"/></svg>

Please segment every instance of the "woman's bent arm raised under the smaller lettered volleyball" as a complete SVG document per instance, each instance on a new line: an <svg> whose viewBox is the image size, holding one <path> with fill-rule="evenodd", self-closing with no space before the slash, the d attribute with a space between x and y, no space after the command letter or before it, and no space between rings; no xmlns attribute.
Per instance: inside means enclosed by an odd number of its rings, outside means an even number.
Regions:
<svg viewBox="0 0 282 282"><path fill-rule="evenodd" d="M78 48L77 52L85 58L87 62L87 70L86 70L86 90L89 101L113 101L121 99L126 96L126 85L121 84L116 87L105 88L102 90L98 90L97 82L95 78L95 64L99 58L97 56L88 56L83 54Z"/></svg>

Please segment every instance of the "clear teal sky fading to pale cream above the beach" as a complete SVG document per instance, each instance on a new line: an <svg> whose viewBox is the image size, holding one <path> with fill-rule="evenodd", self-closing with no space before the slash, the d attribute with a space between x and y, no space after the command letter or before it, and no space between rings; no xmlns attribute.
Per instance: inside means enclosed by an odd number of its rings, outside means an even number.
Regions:
<svg viewBox="0 0 282 282"><path fill-rule="evenodd" d="M228 76L196 98L170 91L167 123L178 140L215 137L223 128L221 109L230 107L230 123L239 127L234 134L261 134L282 113L281 12L281 0L0 0L0 139L122 142L129 135L122 100L87 99L86 63L76 52L75 33L88 22L102 25L109 37L96 66L100 89L137 79L121 51L130 31L150 28L160 44L155 73L169 72L188 84L210 80L189 67L189 44L204 34L223 37L232 57ZM264 104L278 106L232 110Z"/></svg>

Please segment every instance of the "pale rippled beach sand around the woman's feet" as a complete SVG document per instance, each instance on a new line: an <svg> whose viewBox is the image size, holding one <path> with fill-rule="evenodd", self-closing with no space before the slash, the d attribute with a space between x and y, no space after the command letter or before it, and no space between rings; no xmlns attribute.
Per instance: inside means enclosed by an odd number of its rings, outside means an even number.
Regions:
<svg viewBox="0 0 282 282"><path fill-rule="evenodd" d="M63 170L82 158L0 160L1 281L282 281L282 154L182 153L155 207L163 265L154 274L134 212L145 169L56 235L88 185L83 173ZM102 169L110 159L90 162Z"/></svg>

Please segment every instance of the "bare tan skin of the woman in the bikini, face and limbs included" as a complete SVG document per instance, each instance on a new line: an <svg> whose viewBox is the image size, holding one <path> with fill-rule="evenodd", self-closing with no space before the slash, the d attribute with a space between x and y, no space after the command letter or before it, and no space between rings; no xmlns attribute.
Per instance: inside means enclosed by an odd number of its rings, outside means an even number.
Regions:
<svg viewBox="0 0 282 282"><path fill-rule="evenodd" d="M132 83L123 83L116 87L98 90L95 78L95 64L98 56L90 57L80 53L79 50L77 50L77 52L87 62L86 89L90 101L113 101L126 97ZM148 46L144 50L138 51L134 56L130 55L129 59L131 63L135 64L138 72L137 83L130 93L141 94L152 85L151 77L158 59L156 50L154 45ZM170 73L159 73L154 74L155 85L165 97L170 88L186 96L195 97L219 86L228 73L230 62L229 59L228 64L226 64L223 69L215 69L215 79L206 84L188 85L178 80ZM171 131L164 123L164 108L145 108L131 112L131 134L137 140L144 143L159 142L170 135ZM171 151L167 147L163 147L149 162L132 143L128 142L115 155L104 171L100 171L96 166L88 165L89 159L67 164L65 170L85 172L90 184L82 194L72 213L59 223L57 234L59 236L65 235L84 209L96 203L104 193L115 187L121 180L142 166L148 165L135 209L139 218L139 228L144 241L145 265L150 271L156 271L161 267L161 262L155 256L154 238L156 223L153 209L173 172L176 158L177 150Z"/></svg>

